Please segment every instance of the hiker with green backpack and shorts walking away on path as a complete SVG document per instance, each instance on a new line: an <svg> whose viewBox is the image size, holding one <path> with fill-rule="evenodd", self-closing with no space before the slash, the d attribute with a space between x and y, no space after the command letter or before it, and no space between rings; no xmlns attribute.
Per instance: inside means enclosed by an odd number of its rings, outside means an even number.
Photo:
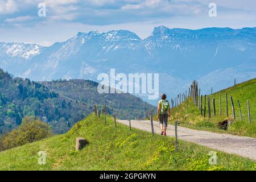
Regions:
<svg viewBox="0 0 256 182"><path fill-rule="evenodd" d="M158 102L158 119L160 122L161 135L166 136L168 117L171 115L170 103L166 100L166 94L161 95L162 100Z"/></svg>

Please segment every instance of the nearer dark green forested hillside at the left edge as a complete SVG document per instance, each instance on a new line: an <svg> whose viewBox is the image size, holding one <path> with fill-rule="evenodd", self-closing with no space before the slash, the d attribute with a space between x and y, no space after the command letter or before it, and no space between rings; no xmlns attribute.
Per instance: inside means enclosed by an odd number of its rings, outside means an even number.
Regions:
<svg viewBox="0 0 256 182"><path fill-rule="evenodd" d="M1 134L20 125L26 115L35 115L55 133L63 133L88 113L85 103L59 96L37 82L13 78L0 69Z"/></svg>

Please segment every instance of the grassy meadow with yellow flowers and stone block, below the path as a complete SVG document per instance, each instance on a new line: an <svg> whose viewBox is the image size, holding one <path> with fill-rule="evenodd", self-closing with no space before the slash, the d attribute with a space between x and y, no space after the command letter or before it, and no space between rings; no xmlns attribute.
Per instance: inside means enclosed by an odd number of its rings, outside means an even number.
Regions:
<svg viewBox="0 0 256 182"><path fill-rule="evenodd" d="M90 144L74 151L76 137ZM38 164L38 152L47 152L46 165ZM256 163L236 155L218 152L218 163L210 166L207 147L145 131L129 130L113 118L94 115L77 123L67 134L26 144L0 153L1 170L255 170Z"/></svg>

